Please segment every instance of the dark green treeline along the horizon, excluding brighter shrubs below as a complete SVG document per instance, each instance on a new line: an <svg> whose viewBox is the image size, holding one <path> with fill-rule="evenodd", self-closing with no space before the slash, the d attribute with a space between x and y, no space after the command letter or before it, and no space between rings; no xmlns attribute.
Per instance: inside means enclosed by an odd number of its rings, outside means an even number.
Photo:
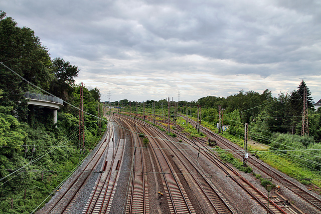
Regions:
<svg viewBox="0 0 321 214"><path fill-rule="evenodd" d="M235 95L228 97L207 96L197 101L180 101L171 102L171 106L177 105L177 111L183 115L191 115L197 117L197 106L200 106L200 119L216 125L219 121L219 106L222 109L223 121L226 125L233 125L230 131L236 131L238 127L244 123L248 123L250 127L259 126L267 132L280 132L301 135L302 109L303 109L303 91L306 88L307 93L307 109L309 121L309 136L313 136L314 140L321 140L321 117L320 110L314 110L311 93L306 83L302 80L297 89L290 93L280 93L278 97L273 97L271 91L266 89L262 93L255 91L239 91ZM158 114L167 111L168 101L166 99L154 101L147 100L145 102L129 101L127 99L110 103L115 107L131 106L131 111L142 112L145 106L146 114L152 114L153 103ZM105 105L109 105L106 103ZM163 107L162 107L163 105ZM174 116L173 107L171 107L171 115ZM244 132L244 131L243 131ZM264 140L263 140L264 141ZM267 142L265 142L267 143Z"/></svg>

